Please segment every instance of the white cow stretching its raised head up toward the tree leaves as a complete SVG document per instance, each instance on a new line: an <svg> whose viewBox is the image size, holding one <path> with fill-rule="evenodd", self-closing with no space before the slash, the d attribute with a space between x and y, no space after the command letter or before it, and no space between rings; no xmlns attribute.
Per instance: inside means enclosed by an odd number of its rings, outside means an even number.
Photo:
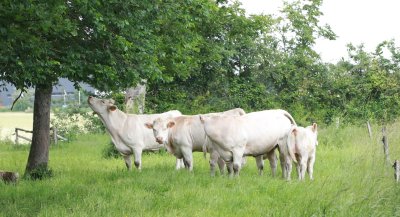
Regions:
<svg viewBox="0 0 400 217"><path fill-rule="evenodd" d="M90 108L100 117L117 150L123 155L128 170L131 170L131 155L139 170L142 168L142 151L158 150L163 147L154 139L153 132L144 123L159 117L176 117L182 115L177 110L162 114L135 115L126 114L114 105L112 99L98 99L89 96Z"/></svg>

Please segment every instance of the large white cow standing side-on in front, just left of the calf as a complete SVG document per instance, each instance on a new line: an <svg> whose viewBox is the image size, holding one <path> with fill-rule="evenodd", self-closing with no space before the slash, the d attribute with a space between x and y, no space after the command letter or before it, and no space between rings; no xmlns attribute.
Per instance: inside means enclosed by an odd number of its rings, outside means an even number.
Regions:
<svg viewBox="0 0 400 217"><path fill-rule="evenodd" d="M200 116L200 119L213 147L225 162L233 164L235 175L239 174L243 156L256 157L257 166L262 170L263 156L274 156L273 150L277 146L281 150L292 125L296 125L293 117L284 110L265 110L238 117ZM283 176L287 177L291 161L290 157L284 157L281 159L284 162L282 170Z"/></svg>

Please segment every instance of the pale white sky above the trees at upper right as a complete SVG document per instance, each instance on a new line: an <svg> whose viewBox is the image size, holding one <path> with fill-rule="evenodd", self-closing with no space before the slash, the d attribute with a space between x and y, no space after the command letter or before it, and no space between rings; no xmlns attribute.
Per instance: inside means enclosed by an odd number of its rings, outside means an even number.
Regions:
<svg viewBox="0 0 400 217"><path fill-rule="evenodd" d="M277 14L282 0L240 0L248 14ZM315 50L325 62L347 57L346 44L364 44L369 52L385 41L400 43L400 0L322 0L321 24L331 26L335 41L319 39Z"/></svg>

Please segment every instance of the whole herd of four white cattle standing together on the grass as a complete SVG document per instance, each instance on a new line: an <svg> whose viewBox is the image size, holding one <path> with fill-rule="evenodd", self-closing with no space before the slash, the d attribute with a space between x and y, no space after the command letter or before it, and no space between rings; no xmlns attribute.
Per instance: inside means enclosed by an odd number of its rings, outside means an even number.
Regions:
<svg viewBox="0 0 400 217"><path fill-rule="evenodd" d="M212 176L216 164L221 174L226 166L229 175L239 175L245 156L256 158L260 174L264 159L268 159L275 175L278 160L275 149L278 149L285 179L290 179L292 161L297 165L300 180L305 178L306 171L313 179L317 124L299 127L285 110L246 113L236 108L200 115L182 115L173 110L136 115L122 112L112 99L89 96L88 103L111 135L128 170L132 168L132 154L140 170L142 151L165 147L176 157L176 169L186 167L192 171L192 152L204 152L204 155L210 154Z"/></svg>

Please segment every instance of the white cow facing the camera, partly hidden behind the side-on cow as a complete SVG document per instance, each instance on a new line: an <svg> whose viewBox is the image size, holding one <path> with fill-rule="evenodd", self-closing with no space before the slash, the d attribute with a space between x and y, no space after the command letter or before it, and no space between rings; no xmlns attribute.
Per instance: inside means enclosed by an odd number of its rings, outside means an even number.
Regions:
<svg viewBox="0 0 400 217"><path fill-rule="evenodd" d="M228 110L221 113L210 113L204 116L240 116L246 114L241 108ZM212 150L210 140L204 132L204 127L198 115L185 115L174 118L160 117L153 123L146 123L149 129L153 129L154 137L160 144L165 144L169 153L176 158L183 158L183 162L190 171L193 170L192 152L210 152L210 173L215 174L215 164L218 163L221 174L225 162L219 159L218 152ZM179 169L179 168L177 168Z"/></svg>

